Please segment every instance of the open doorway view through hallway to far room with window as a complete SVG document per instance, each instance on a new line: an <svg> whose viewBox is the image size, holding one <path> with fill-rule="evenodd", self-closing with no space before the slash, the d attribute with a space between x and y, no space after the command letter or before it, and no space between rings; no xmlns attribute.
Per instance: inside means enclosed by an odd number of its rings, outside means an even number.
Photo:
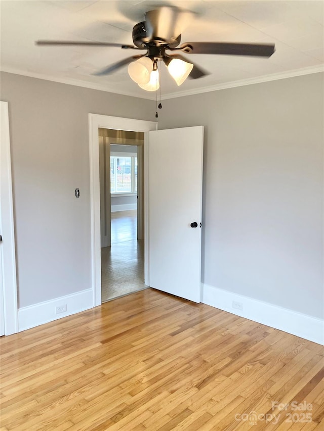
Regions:
<svg viewBox="0 0 324 431"><path fill-rule="evenodd" d="M101 302L145 289L144 133L99 128Z"/></svg>

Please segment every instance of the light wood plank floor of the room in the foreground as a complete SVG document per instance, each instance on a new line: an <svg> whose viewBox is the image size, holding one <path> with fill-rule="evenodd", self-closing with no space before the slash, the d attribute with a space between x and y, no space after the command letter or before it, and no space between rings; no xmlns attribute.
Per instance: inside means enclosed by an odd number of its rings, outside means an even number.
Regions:
<svg viewBox="0 0 324 431"><path fill-rule="evenodd" d="M152 289L0 342L2 430L324 429L322 346Z"/></svg>

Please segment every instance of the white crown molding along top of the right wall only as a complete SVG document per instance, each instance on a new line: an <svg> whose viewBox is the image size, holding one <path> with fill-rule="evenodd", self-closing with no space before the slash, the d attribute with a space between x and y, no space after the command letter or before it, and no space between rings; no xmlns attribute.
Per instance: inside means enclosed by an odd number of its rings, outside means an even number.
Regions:
<svg viewBox="0 0 324 431"><path fill-rule="evenodd" d="M210 91L224 90L226 88L242 87L245 85L259 84L262 82L276 81L279 79L293 78L295 76L309 75L311 73L324 72L324 64L319 66L305 67L302 69L289 70L287 72L272 73L270 75L257 76L255 78L242 79L239 81L225 82L224 84L210 85L192 90L185 90L177 93L165 94L161 100L174 99L193 94L207 93Z"/></svg>

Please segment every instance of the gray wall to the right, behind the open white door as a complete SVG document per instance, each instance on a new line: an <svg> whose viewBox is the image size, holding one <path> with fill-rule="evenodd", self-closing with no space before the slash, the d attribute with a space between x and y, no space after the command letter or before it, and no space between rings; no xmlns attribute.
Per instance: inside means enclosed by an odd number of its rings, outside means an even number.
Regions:
<svg viewBox="0 0 324 431"><path fill-rule="evenodd" d="M322 74L163 102L206 126L205 283L323 316L323 118Z"/></svg>

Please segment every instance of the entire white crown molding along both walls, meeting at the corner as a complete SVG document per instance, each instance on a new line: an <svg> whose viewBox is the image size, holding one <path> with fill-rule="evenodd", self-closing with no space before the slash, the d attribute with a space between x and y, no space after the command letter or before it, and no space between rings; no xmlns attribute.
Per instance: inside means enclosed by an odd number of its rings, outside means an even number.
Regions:
<svg viewBox="0 0 324 431"><path fill-rule="evenodd" d="M41 73L34 73L30 71L12 69L7 67L2 67L0 70L2 72L13 73L15 75L23 75L23 76L29 76L31 78L45 79L47 81L53 81L53 82L60 82L61 84L76 85L78 87L91 88L93 90L106 91L109 93L121 94L121 95L139 98L139 99L155 100L154 98L155 93L151 94L149 92L145 92L143 93L143 95L139 95L135 92L133 93L130 91L123 91L116 88L112 88L107 86L106 84L102 85L98 83L82 81L82 80L73 79L73 78L64 78L64 77L61 78L61 77L49 76ZM276 81L279 79L293 78L295 76L309 75L309 74L318 73L318 72L324 72L324 64L305 67L301 69L289 70L287 72L272 73L270 75L257 76L254 78L241 79L238 81L225 82L223 84L210 85L208 87L199 87L199 88L193 88L193 89L184 90L184 91L177 91L174 93L167 93L167 94L161 95L161 100L168 100L168 99L174 99L179 97L185 97L188 95L207 93L207 92L217 91L217 90L224 90L226 88L234 88L234 87L241 87L245 85L259 84L259 83L268 82L268 81Z"/></svg>

